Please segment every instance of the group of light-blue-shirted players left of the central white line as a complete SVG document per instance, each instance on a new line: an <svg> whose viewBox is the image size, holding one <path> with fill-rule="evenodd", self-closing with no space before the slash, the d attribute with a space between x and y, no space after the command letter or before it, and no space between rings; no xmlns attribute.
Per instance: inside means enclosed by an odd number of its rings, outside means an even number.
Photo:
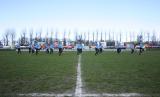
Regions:
<svg viewBox="0 0 160 97"><path fill-rule="evenodd" d="M20 48L20 45L19 44L17 44L16 45L16 48L18 49L18 54L21 54L21 48ZM33 44L33 45L30 45L29 46L29 54L30 53L32 53L32 54L34 54L34 53L36 53L36 55L39 53L39 50L41 49L41 47L40 47L40 45L38 44L38 43L35 43L35 44ZM51 45L49 45L49 44L46 44L46 53L47 54L52 54L53 53L53 49L54 49L54 45L53 44L51 44ZM62 54L62 52L63 52L63 45L62 45L62 43L59 43L58 44L58 49L59 49L59 56Z"/></svg>

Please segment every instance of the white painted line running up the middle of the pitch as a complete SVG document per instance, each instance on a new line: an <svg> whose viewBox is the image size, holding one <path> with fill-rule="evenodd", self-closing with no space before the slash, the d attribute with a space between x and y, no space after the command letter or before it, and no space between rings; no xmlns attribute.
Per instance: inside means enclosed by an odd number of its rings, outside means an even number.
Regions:
<svg viewBox="0 0 160 97"><path fill-rule="evenodd" d="M78 56L77 81L76 81L75 96L82 97L81 55Z"/></svg>

